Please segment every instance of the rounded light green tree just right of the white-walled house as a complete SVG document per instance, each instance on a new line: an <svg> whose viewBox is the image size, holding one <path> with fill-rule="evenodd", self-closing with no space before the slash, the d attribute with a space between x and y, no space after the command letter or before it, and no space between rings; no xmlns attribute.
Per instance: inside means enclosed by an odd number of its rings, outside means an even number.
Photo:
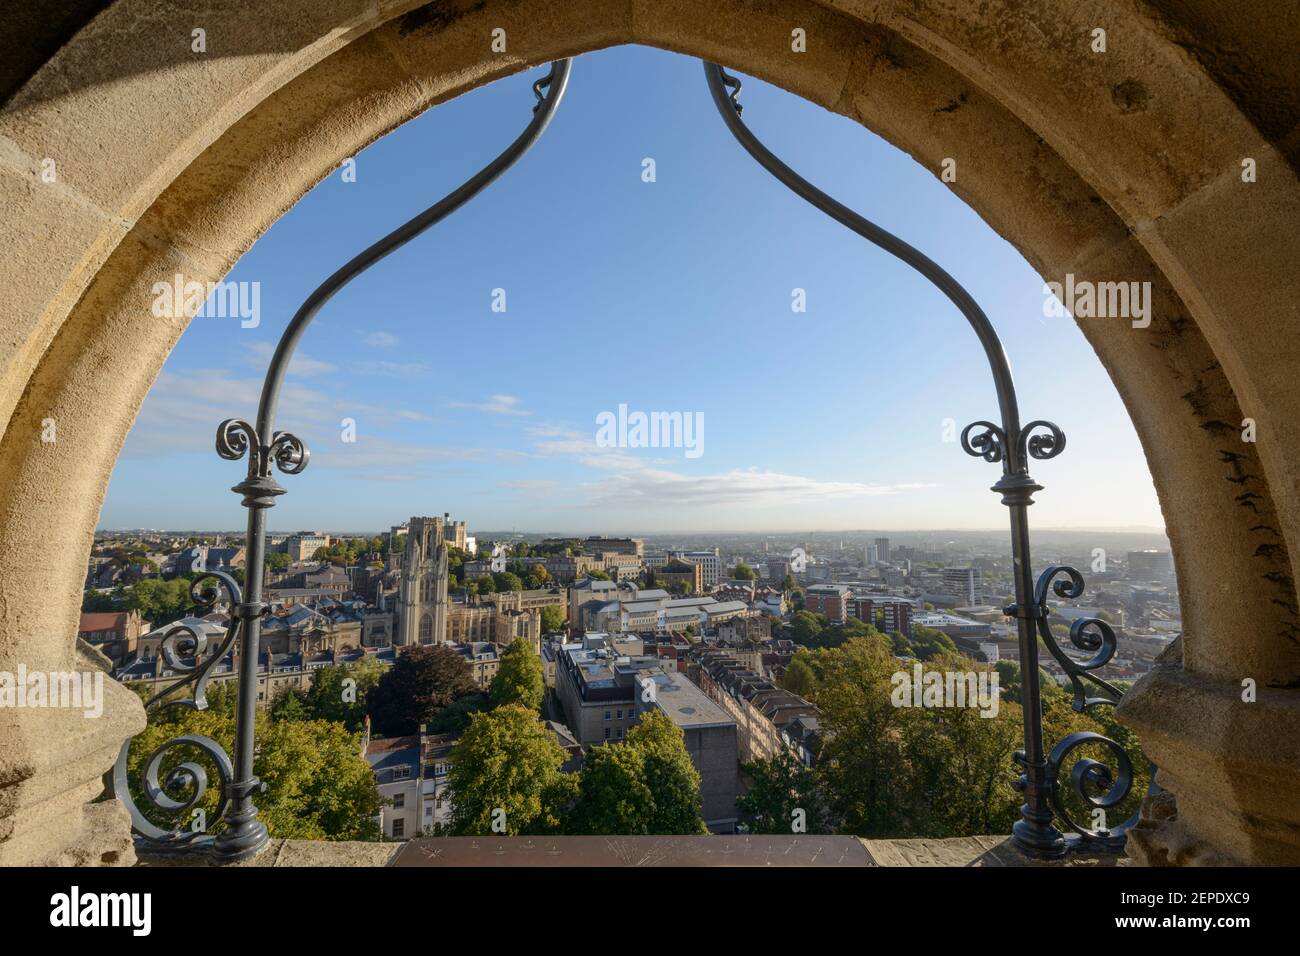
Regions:
<svg viewBox="0 0 1300 956"><path fill-rule="evenodd" d="M451 748L447 790L456 835L554 834L573 796L567 754L517 704L473 714Z"/></svg>

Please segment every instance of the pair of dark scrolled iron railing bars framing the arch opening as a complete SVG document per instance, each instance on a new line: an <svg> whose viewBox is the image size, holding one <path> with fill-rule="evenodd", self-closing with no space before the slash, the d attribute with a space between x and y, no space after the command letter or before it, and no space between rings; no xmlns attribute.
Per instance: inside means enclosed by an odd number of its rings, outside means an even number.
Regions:
<svg viewBox="0 0 1300 956"><path fill-rule="evenodd" d="M569 60L551 64L550 72L537 81L533 91L537 105L533 118L524 131L497 159L459 189L415 216L386 237L369 246L360 255L338 269L307 298L281 336L263 385L256 425L240 419L222 421L217 429L217 454L238 460L248 455L246 479L233 490L242 496L248 511L246 542L246 589L226 574L208 572L194 584L194 597L200 607L212 609L225 604L230 614L230 628L218 646L211 652L205 635L177 624L162 641L161 654L168 666L185 671L170 687L155 695L147 710L183 706L202 710L207 706L204 689L216 663L229 653L238 652L239 698L235 721L235 758L231 761L214 740L196 735L173 737L156 748L142 763L140 790L147 801L159 812L183 816L195 808L208 792L208 778L203 766L186 760L176 762L168 754L177 748L191 748L207 754L216 766L217 810L205 826L187 826L181 821L174 829L162 829L151 822L131 797L129 787L127 741L109 774L109 792L122 800L131 813L138 844L150 852L205 855L228 862L246 858L261 849L268 840L266 827L257 819L254 795L261 784L254 774L255 714L257 705L257 657L261 619L269 611L263 601L261 587L265 567L265 512L274 506L285 489L272 476L272 468L286 475L296 475L307 467L307 447L295 436L274 431L276 406L280 388L290 358L307 325L321 307L351 280L356 278L384 256L416 238L436 222L478 195L537 142L564 95L568 83ZM1124 831L1135 822L1136 814L1114 829L1087 827L1074 821L1065 805L1065 788L1060 780L1066 760L1079 748L1100 745L1112 750L1117 773L1096 760L1078 760L1070 773L1075 795L1087 805L1109 809L1119 805L1132 788L1132 766L1123 748L1098 734L1072 734L1060 741L1050 753L1044 752L1043 701L1039 684L1039 646L1041 637L1050 654L1070 678L1074 689L1074 708L1087 710L1100 705L1113 705L1119 691L1093 674L1110 661L1115 652L1115 635L1100 619L1076 620L1070 628L1071 644L1093 657L1079 662L1067 656L1057 644L1048 624L1049 591L1057 597L1076 598L1083 593L1083 578L1072 567L1053 566L1043 571L1035 581L1030 562L1030 532L1027 509L1032 496L1043 490L1028 473L1030 459L1054 458L1065 449L1065 434L1050 421L1020 423L1019 407L1010 367L1001 341L992 323L971 295L948 272L924 254L888 230L878 226L853 209L836 202L798 173L786 166L763 146L741 121L738 101L740 81L723 68L705 64L705 74L714 103L728 130L758 163L797 195L858 235L897 256L916 269L942 291L966 316L975 330L993 376L997 392L1000 423L975 421L961 434L962 447L987 462L1001 463L1002 476L993 490L1002 496L1010 509L1011 553L1015 567L1015 604L1006 609L1014 615L1019 628L1020 695L1024 713L1024 749L1015 754L1022 767L1018 787L1024 793L1022 819L1014 827L1017 844L1035 856L1063 855L1071 845L1114 849L1122 845ZM728 88L731 92L728 94ZM191 662L192 661L192 662ZM1098 696L1088 696L1086 683L1098 688ZM187 697L179 691L192 688ZM174 763L174 765L173 765ZM165 765L172 765L164 770ZM160 779L160 774L162 774ZM1054 826L1060 819L1072 834L1066 838ZM214 826L216 836L209 835Z"/></svg>

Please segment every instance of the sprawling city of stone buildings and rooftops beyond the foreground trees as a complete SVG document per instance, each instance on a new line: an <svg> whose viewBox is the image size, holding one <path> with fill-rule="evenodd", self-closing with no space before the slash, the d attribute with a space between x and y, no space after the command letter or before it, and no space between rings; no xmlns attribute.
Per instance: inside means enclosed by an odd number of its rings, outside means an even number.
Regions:
<svg viewBox="0 0 1300 956"><path fill-rule="evenodd" d="M157 585L188 587L207 572L242 581L242 537L100 532L79 636L142 696L166 687L177 676L160 650L169 631L183 626L217 645L230 620L222 610L190 617L183 600L155 610ZM322 671L382 671L420 648L452 650L471 678L464 697L406 727L413 734L385 736L367 714L361 753L384 804L374 822L396 840L451 832L448 779L463 727L445 724L491 692L510 648L541 663L538 714L568 773L580 773L593 748L629 739L646 713L666 715L716 834L755 826L759 808L745 800L754 761L816 765L824 731L816 704L800 693L816 696L797 679L802 667L792 676L801 653L870 631L890 643L900 670L936 654L949 669L958 659L972 671L1018 667L1004 610L1010 558L993 532L566 537L485 532L442 515L365 535L270 533L266 544L259 706L280 711L329 684ZM1089 568L1087 601L1054 604L1050 623L1113 627L1118 650L1100 676L1140 678L1180 632L1162 536L1043 532L1036 546L1045 563ZM1067 685L1054 659L1043 669ZM237 672L228 661L212 682ZM642 700L650 685L653 698Z"/></svg>

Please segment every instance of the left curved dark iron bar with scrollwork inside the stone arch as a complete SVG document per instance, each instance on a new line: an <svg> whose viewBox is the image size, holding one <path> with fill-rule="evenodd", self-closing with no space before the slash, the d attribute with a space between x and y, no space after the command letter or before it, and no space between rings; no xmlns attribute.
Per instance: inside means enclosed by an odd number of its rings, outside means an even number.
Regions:
<svg viewBox="0 0 1300 956"><path fill-rule="evenodd" d="M168 631L162 643L162 653L172 666L186 671L186 674L155 695L148 706L204 709L207 706L204 687L208 674L230 652L238 639L239 701L235 714L235 760L231 762L220 744L199 735L173 737L156 748L144 760L140 771L143 795L156 810L170 816L196 810L199 801L208 792L208 774L203 765L194 760L178 762L170 769L165 769L164 763L169 762L177 748L183 752L196 749L205 754L217 777L217 805L212 818L198 827L181 822L174 829L165 830L150 821L131 797L127 779L130 749L130 741L127 741L108 775L108 787L109 792L126 805L131 814L136 839L147 848L156 852L203 853L218 862L233 862L252 856L269 839L266 827L257 819L257 808L252 803L252 795L261 791L261 782L254 774L254 727L257 708L261 618L268 611L268 605L261 600L266 557L265 512L276 503L276 497L285 493L285 489L272 477L272 468L278 468L286 475L296 475L307 467L311 458L300 438L289 432L273 431L280 388L303 332L320 313L325 303L343 286L390 252L441 222L515 165L541 138L555 116L555 109L568 86L571 65L572 61L568 59L556 60L551 64L550 72L533 83L533 94L537 98L533 118L524 127L524 131L491 163L424 212L411 217L350 259L307 297L307 300L289 321L272 355L257 406L256 427L242 419L228 419L217 427L217 455L228 460L238 460L246 454L248 455L247 477L231 489L243 496L242 503L248 509L247 587L240 594L238 584L229 575L205 575L205 578L217 578L230 593L230 628L217 650L195 666L186 665L183 656L187 653L202 654L205 650L205 637L183 626ZM195 588L198 588L198 581ZM207 588L202 593L196 589L194 596L200 605L209 606L216 601L217 589ZM194 684L190 698L164 700L190 683ZM160 774L162 774L161 778ZM222 822L225 827L214 838L209 836L207 831L217 822Z"/></svg>

